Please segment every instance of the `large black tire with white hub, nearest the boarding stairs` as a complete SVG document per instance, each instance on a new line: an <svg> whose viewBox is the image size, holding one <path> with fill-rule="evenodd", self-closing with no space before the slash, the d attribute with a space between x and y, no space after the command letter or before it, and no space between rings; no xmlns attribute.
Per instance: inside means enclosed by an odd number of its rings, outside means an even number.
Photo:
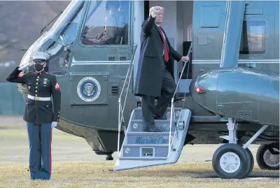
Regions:
<svg viewBox="0 0 280 188"><path fill-rule="evenodd" d="M253 169L253 155L241 145L228 143L218 147L213 155L212 166L223 179L246 178Z"/></svg>

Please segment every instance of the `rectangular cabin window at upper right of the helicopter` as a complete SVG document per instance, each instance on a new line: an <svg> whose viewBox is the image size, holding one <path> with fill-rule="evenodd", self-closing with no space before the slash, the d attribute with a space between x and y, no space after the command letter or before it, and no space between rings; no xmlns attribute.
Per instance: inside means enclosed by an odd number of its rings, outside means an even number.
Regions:
<svg viewBox="0 0 280 188"><path fill-rule="evenodd" d="M241 34L240 54L265 53L265 22L244 21Z"/></svg>

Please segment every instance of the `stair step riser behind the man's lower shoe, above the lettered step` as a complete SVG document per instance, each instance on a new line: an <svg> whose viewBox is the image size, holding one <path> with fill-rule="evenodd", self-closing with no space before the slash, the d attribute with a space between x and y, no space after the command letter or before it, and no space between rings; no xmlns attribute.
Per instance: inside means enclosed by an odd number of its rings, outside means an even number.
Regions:
<svg viewBox="0 0 280 188"><path fill-rule="evenodd" d="M176 122L172 120L172 131L175 131ZM155 120L155 127L161 129L164 132L170 130L170 120ZM146 125L142 120L132 120L130 122L130 132L145 132Z"/></svg>

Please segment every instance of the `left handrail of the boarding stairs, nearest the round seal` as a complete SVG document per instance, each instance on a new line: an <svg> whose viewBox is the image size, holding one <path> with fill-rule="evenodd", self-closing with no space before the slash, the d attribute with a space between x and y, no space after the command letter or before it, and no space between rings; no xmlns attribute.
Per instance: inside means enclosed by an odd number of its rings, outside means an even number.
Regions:
<svg viewBox="0 0 280 188"><path fill-rule="evenodd" d="M137 44L134 44L134 49L133 49L133 52L132 52L132 59L130 61L130 66L127 70L127 75L125 76L125 83L123 84L123 89L122 89L122 92L120 92L120 97L118 99L118 157L119 157L119 152L120 152L120 126L121 126L122 122L124 124L124 133L126 133L125 118L123 117L123 112L125 110L125 102L127 101L128 89L130 88L130 80L132 78L132 71L133 71L133 66L134 66L134 57L135 57L136 50L137 50ZM123 96L123 90L125 89L125 85L126 85L126 82L127 82L127 77L128 77L129 72L130 72L130 79L128 80L127 92L125 94L125 101L124 101L124 104L123 104L123 107L122 107L121 98Z"/></svg>

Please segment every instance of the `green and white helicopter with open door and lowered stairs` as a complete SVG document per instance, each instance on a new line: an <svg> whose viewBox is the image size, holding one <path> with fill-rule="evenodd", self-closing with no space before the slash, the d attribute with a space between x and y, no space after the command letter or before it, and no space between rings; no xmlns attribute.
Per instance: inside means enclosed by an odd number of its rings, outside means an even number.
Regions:
<svg viewBox="0 0 280 188"><path fill-rule="evenodd" d="M141 23L156 5L170 44L190 61L174 62L176 93L167 120L155 121L165 132L147 133L134 82ZM62 92L57 129L107 160L118 152L115 171L175 163L187 144L223 144L214 171L246 178L251 143L260 144L260 168L279 169L265 159L279 155L279 1L71 1L20 66L38 51L50 55ZM18 89L26 98L26 86ZM221 163L228 153L239 161L234 171Z"/></svg>

